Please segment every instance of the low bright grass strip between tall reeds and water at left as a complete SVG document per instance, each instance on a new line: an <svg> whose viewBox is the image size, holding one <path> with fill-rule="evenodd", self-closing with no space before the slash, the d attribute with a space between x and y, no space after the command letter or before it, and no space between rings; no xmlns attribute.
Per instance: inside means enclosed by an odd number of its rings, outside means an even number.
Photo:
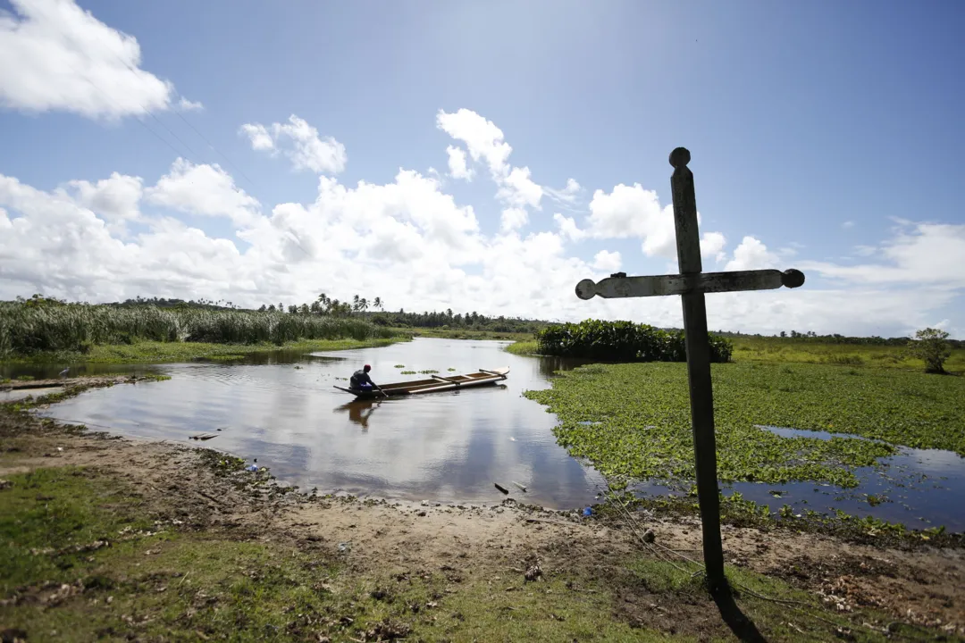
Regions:
<svg viewBox="0 0 965 643"><path fill-rule="evenodd" d="M191 360L243 360L258 353L291 351L309 353L313 351L340 351L353 348L388 346L398 341L407 341L408 336L381 339L310 339L291 341L281 346L272 343L261 344L212 344L194 341L140 341L133 344L108 344L91 347L87 353L75 351L52 351L29 356L14 356L5 362L37 363L161 363L188 362Z"/></svg>

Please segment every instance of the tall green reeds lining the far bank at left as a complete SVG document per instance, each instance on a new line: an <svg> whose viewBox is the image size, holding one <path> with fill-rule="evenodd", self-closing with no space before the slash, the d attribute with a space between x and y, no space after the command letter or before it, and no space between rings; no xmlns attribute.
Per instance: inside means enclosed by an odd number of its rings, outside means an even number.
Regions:
<svg viewBox="0 0 965 643"><path fill-rule="evenodd" d="M373 339L394 333L351 317L241 310L0 303L0 356L84 352L139 340L281 345L299 339Z"/></svg>

